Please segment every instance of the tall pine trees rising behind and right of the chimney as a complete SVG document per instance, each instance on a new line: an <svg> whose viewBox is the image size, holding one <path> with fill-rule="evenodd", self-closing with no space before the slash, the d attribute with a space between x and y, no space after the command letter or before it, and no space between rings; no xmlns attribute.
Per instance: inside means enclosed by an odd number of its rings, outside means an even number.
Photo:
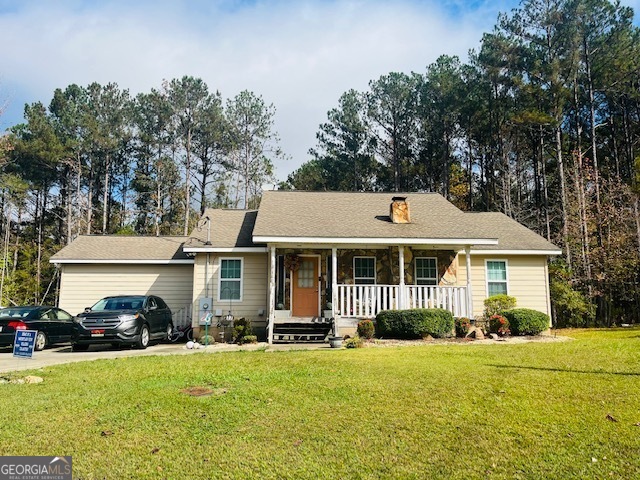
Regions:
<svg viewBox="0 0 640 480"><path fill-rule="evenodd" d="M640 42L608 0L525 0L469 61L349 90L282 188L440 192L560 246L560 324L639 321Z"/></svg>

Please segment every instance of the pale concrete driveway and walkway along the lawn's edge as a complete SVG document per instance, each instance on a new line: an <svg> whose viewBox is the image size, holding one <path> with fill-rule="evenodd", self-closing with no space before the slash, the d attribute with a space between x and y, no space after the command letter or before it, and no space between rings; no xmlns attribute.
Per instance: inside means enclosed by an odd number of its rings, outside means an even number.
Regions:
<svg viewBox="0 0 640 480"><path fill-rule="evenodd" d="M89 360L138 357L152 355L203 355L208 353L219 352L237 352L242 350L254 351L281 351L281 350L317 350L329 349L328 343L310 343L310 344L279 344L268 345L266 343L254 343L248 345L235 345L216 343L206 348L202 347L198 350L189 350L184 343L175 344L156 344L151 345L145 350L136 350L133 348L112 348L109 345L91 345L86 352L72 352L71 347L61 346L54 348L46 348L41 352L34 352L33 358L15 358L12 355L10 347L0 347L0 373L31 370L49 367L51 365L60 365L63 363L85 362Z"/></svg>

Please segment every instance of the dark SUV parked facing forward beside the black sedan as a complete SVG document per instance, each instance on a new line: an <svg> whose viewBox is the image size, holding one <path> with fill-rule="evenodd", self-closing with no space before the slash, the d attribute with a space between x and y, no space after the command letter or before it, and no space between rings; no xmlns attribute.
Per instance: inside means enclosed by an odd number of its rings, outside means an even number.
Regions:
<svg viewBox="0 0 640 480"><path fill-rule="evenodd" d="M87 350L94 343L147 348L151 340L171 336L171 310L155 295L106 297L74 318L72 347Z"/></svg>

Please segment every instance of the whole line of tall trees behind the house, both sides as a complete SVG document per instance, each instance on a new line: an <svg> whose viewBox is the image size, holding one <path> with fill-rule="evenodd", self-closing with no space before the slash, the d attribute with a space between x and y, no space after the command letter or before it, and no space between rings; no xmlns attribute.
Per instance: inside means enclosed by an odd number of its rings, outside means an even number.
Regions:
<svg viewBox="0 0 640 480"><path fill-rule="evenodd" d="M443 55L345 92L280 188L433 191L504 212L562 248L559 324L638 322L639 39L617 2L523 0L467 62ZM256 206L283 155L274 113L191 77L27 105L0 145L0 300L51 301L48 257L78 234L186 234L207 206Z"/></svg>

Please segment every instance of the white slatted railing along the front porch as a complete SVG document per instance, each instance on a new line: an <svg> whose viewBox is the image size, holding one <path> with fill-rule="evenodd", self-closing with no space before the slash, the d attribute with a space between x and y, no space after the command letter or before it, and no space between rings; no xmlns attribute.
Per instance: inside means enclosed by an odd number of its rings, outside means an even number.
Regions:
<svg viewBox="0 0 640 480"><path fill-rule="evenodd" d="M444 308L467 317L467 287L338 285L336 311L342 317L372 318L381 310L409 308Z"/></svg>

